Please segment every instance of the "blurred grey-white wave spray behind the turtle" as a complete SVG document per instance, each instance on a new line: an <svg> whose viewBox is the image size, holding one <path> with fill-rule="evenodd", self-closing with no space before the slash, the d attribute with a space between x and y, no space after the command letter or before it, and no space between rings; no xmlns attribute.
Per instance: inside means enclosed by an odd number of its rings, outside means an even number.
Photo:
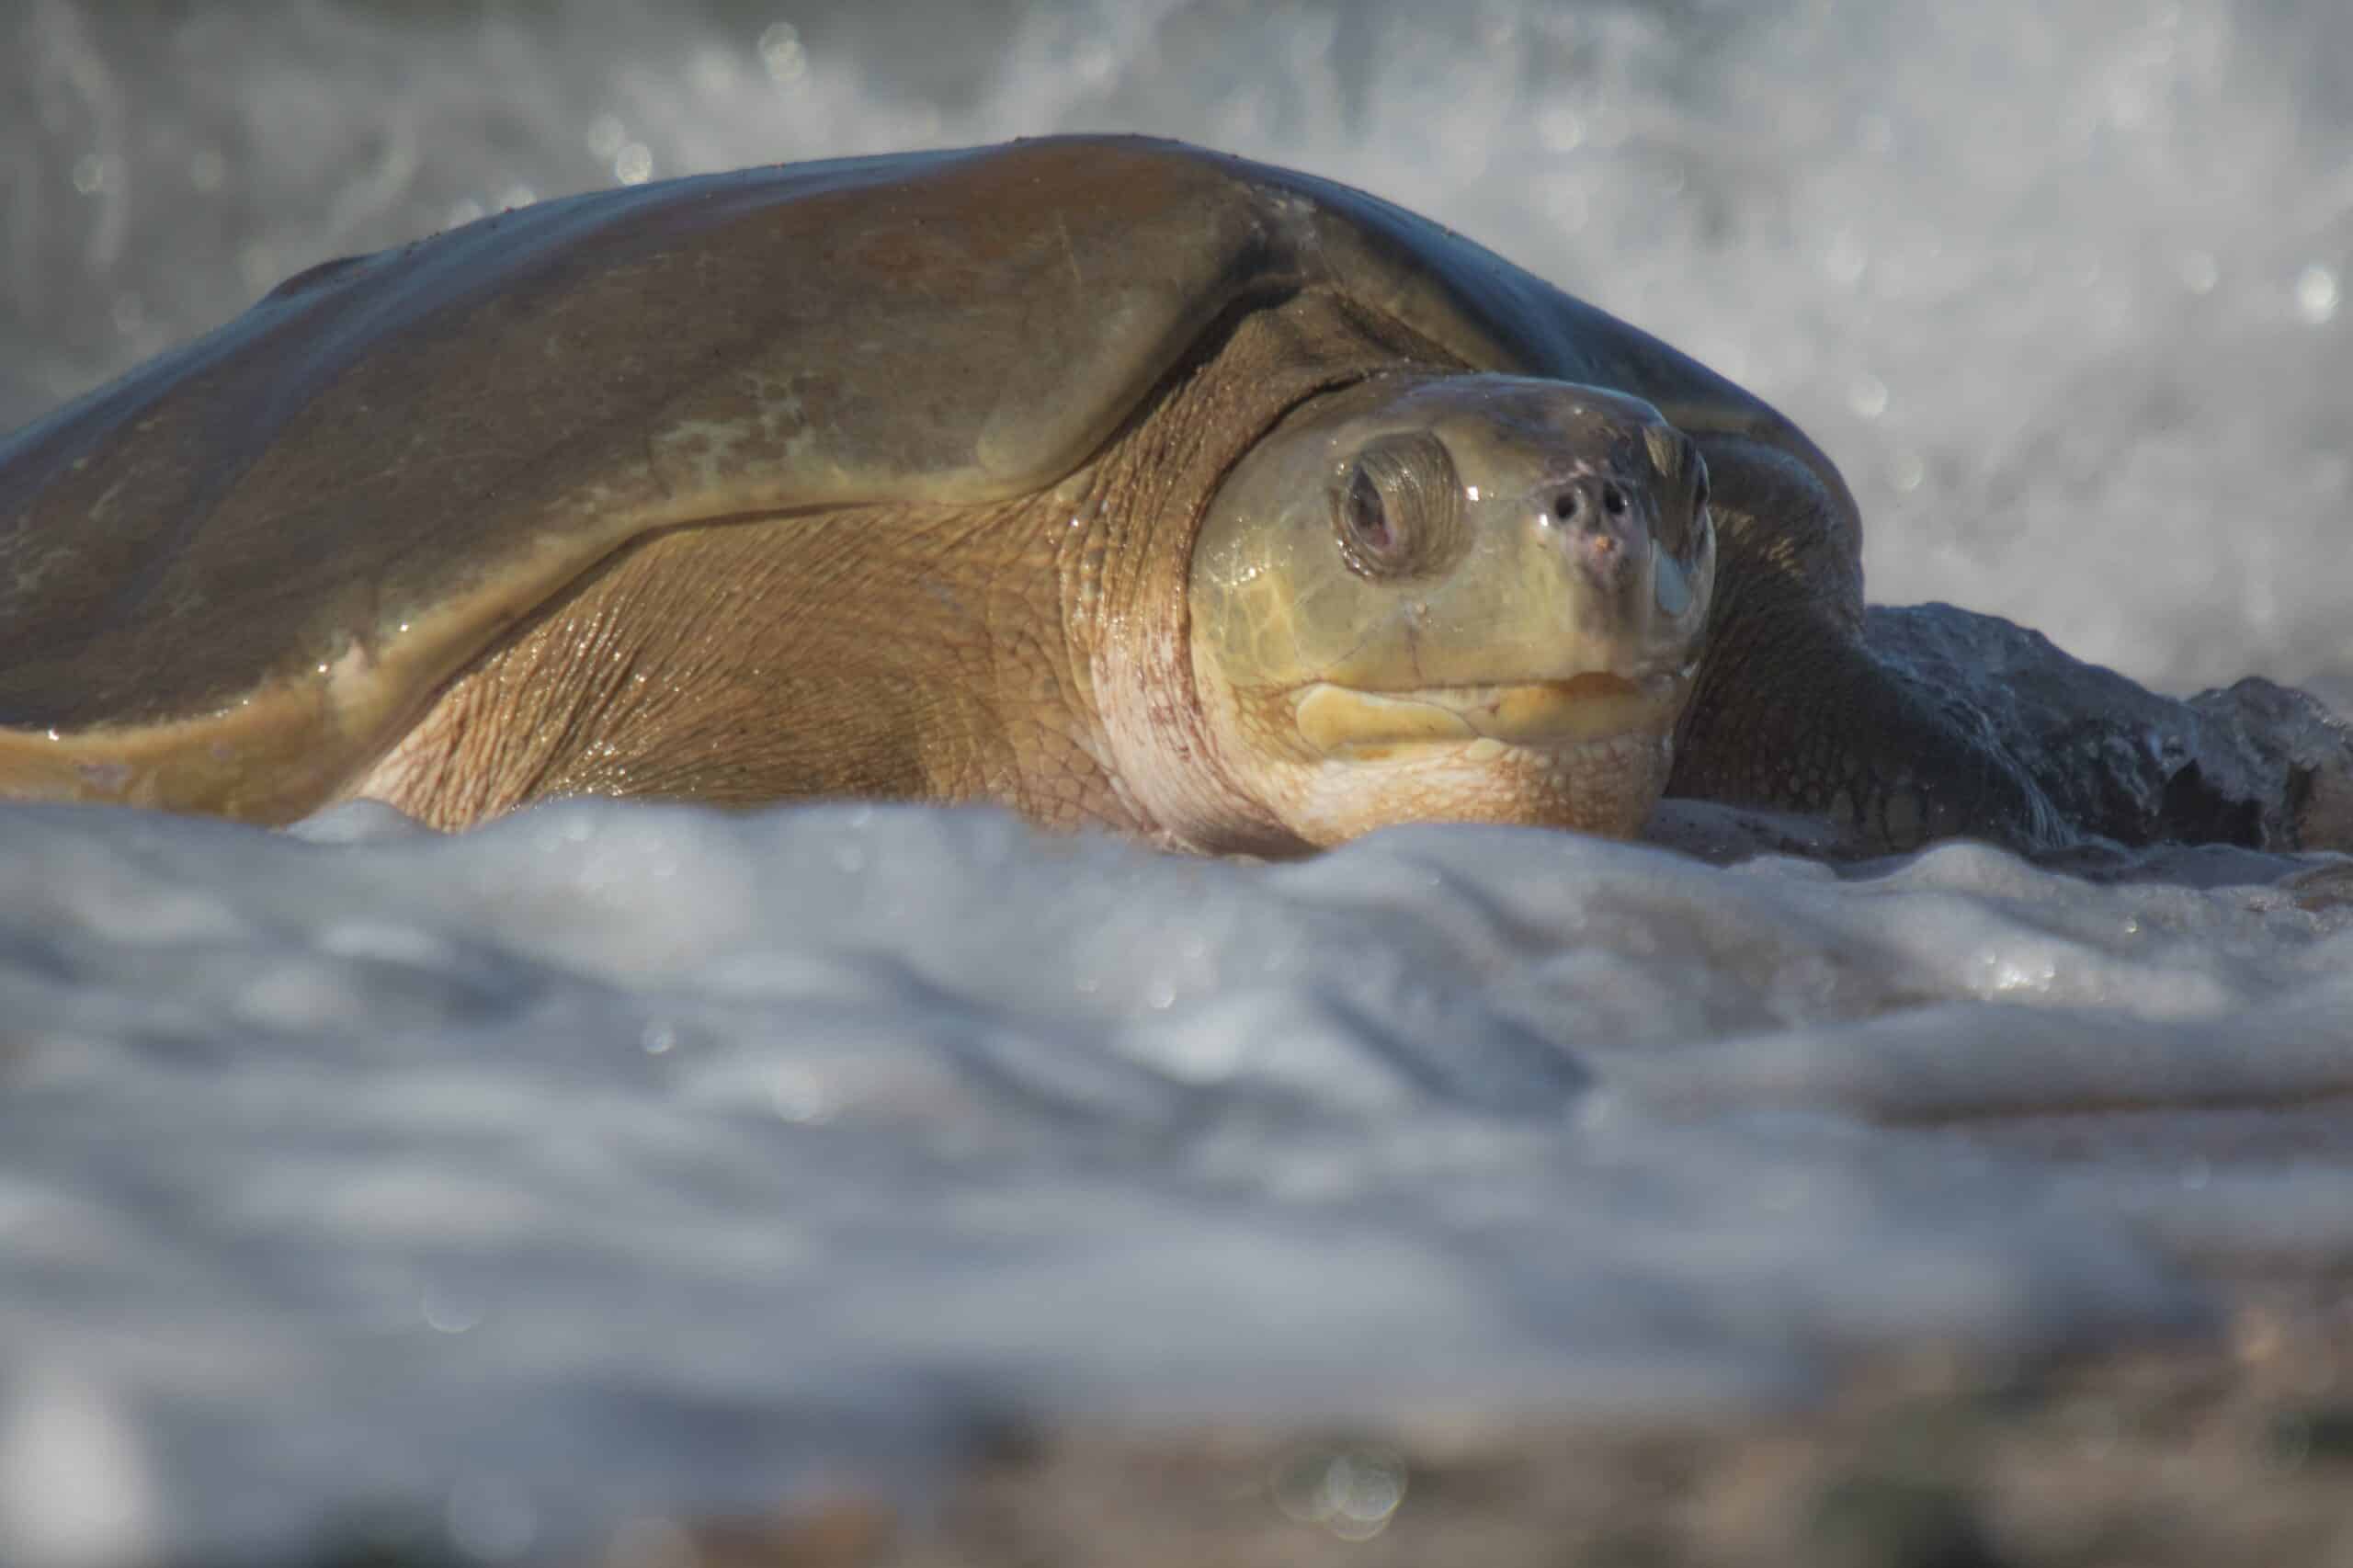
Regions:
<svg viewBox="0 0 2353 1568"><path fill-rule="evenodd" d="M1871 596L2353 706L2344 0L7 0L0 428L499 207L1059 129L1438 217L1845 466Z"/></svg>

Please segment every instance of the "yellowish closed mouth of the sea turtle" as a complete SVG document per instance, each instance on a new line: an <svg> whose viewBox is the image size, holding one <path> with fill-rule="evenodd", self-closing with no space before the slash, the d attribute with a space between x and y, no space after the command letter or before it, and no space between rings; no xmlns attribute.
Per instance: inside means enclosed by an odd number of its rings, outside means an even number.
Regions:
<svg viewBox="0 0 2353 1568"><path fill-rule="evenodd" d="M1689 671L1562 680L1426 685L1367 692L1334 680L1294 690L1299 739L1334 760L1384 760L1402 749L1560 749L1621 735L1657 735L1675 723Z"/></svg>

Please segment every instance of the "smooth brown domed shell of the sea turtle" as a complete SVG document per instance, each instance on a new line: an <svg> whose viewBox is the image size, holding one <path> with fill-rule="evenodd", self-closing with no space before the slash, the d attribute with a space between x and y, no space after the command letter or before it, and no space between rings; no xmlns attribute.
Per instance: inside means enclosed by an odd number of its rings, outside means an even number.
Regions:
<svg viewBox="0 0 2353 1568"><path fill-rule="evenodd" d="M600 191L301 273L0 443L0 793L296 815L633 537L1040 490L1301 287L1835 485L1741 388L1452 231L1181 144Z"/></svg>

